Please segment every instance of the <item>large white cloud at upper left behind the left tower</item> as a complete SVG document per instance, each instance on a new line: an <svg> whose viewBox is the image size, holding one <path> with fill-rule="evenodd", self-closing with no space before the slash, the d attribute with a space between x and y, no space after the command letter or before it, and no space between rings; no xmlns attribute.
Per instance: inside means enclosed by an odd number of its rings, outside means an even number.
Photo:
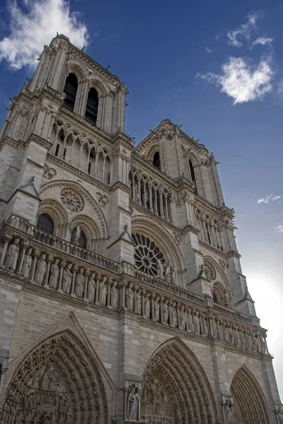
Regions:
<svg viewBox="0 0 283 424"><path fill-rule="evenodd" d="M58 32L69 37L76 47L88 44L88 30L78 12L70 12L66 0L25 0L25 11L11 0L8 4L10 35L0 41L0 61L11 69L35 67L43 45Z"/></svg>

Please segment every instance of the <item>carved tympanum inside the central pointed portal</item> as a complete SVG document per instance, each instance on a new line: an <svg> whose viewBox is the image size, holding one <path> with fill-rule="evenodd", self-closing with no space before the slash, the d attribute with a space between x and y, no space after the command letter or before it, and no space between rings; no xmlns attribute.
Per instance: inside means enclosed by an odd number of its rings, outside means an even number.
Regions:
<svg viewBox="0 0 283 424"><path fill-rule="evenodd" d="M144 385L141 395L141 418L154 424L175 424L166 390L156 377Z"/></svg>

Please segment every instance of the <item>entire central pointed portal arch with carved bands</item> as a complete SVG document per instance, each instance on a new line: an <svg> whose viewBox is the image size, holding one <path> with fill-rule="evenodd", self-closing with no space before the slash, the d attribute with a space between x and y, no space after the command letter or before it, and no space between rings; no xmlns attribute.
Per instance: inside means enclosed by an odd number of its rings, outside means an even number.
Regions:
<svg viewBox="0 0 283 424"><path fill-rule="evenodd" d="M143 372L141 418L156 424L214 424L217 408L202 365L179 338L159 346Z"/></svg>

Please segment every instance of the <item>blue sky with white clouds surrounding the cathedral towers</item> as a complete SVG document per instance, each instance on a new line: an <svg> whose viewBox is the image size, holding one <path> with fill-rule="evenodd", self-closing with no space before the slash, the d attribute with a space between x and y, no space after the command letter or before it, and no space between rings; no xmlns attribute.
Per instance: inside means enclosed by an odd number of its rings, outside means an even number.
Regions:
<svg viewBox="0 0 283 424"><path fill-rule="evenodd" d="M1 122L58 31L125 81L126 131L137 143L168 118L214 152L283 398L282 19L272 0L0 6Z"/></svg>

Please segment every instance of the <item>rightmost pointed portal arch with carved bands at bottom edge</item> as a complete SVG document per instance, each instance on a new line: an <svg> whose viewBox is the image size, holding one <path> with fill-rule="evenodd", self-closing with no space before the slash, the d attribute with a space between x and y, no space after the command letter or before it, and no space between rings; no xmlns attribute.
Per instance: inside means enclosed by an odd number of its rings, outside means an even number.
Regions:
<svg viewBox="0 0 283 424"><path fill-rule="evenodd" d="M270 424L265 395L252 372L242 365L233 376L231 394L238 424Z"/></svg>

